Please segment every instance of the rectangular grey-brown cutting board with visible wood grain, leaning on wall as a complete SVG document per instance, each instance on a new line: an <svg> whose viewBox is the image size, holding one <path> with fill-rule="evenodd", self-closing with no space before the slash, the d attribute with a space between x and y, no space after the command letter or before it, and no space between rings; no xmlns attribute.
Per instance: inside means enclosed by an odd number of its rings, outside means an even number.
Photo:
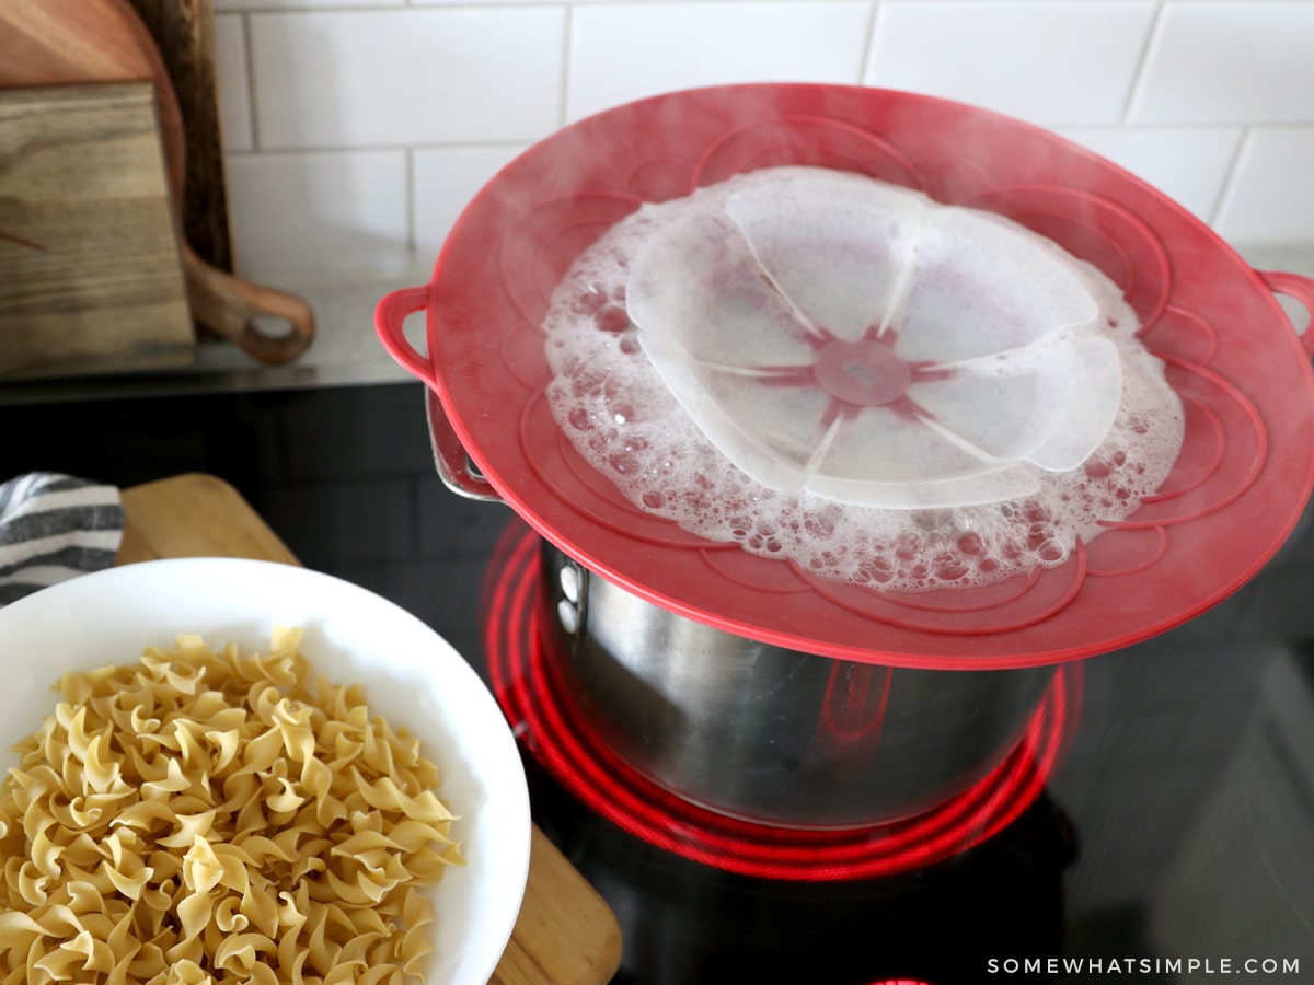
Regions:
<svg viewBox="0 0 1314 985"><path fill-rule="evenodd" d="M154 88L0 91L0 376L193 355Z"/></svg>

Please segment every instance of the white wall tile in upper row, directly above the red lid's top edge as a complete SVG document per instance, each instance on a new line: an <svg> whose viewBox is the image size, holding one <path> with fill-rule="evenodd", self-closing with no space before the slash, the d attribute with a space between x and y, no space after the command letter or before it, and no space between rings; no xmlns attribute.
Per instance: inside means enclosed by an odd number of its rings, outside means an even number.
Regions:
<svg viewBox="0 0 1314 985"><path fill-rule="evenodd" d="M674 89L858 81L870 3L581 5L570 17L566 118Z"/></svg>

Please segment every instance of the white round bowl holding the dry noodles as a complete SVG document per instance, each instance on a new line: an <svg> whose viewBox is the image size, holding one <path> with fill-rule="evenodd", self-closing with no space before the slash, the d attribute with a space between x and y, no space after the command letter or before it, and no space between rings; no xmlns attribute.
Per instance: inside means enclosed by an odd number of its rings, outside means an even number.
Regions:
<svg viewBox="0 0 1314 985"><path fill-rule="evenodd" d="M402 608L290 565L180 558L126 565L0 608L0 766L55 705L64 670L134 663L151 645L200 633L268 651L276 625L335 683L361 684L371 714L405 725L443 774L466 864L432 889L436 953L427 981L484 985L511 936L530 869L530 799L515 739L478 675Z"/></svg>

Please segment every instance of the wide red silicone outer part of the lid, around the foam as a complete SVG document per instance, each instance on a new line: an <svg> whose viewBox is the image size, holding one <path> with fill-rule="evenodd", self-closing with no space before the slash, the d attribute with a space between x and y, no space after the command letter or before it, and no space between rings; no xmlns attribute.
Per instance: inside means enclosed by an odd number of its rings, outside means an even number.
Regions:
<svg viewBox="0 0 1314 985"><path fill-rule="evenodd" d="M643 202L778 164L857 171L995 210L1102 269L1123 288L1185 407L1185 445L1159 494L1062 566L929 594L819 579L631 506L547 406L548 298L574 257ZM1293 286L1284 284L1273 288ZM1286 293L1314 297L1302 278ZM428 356L401 336L405 311L420 307ZM815 654L999 668L1130 645L1251 578L1290 533L1314 482L1314 373L1255 271L1109 162L1030 125L920 95L736 85L583 120L497 175L455 225L431 284L385 298L377 320L388 348L431 387L436 440L449 428L543 536L673 612Z"/></svg>

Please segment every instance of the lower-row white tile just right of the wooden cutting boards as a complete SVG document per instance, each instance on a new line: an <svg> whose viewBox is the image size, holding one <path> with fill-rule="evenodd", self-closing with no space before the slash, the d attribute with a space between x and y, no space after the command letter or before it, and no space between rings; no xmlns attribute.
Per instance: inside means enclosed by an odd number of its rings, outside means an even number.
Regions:
<svg viewBox="0 0 1314 985"><path fill-rule="evenodd" d="M410 264L406 151L227 160L238 271L256 281Z"/></svg>

